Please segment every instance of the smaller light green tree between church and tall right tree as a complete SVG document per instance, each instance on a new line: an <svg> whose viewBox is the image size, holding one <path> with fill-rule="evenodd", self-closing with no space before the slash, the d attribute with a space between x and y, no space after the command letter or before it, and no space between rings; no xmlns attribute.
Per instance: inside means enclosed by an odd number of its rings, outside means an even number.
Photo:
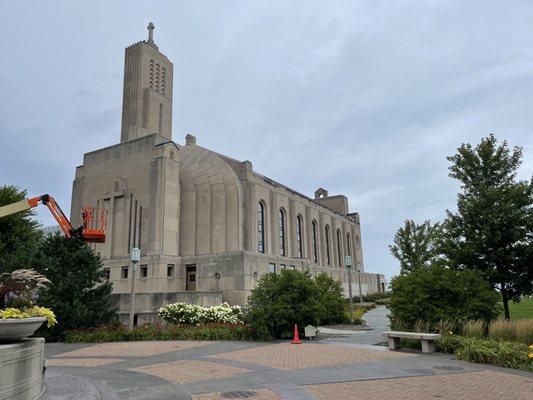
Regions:
<svg viewBox="0 0 533 400"><path fill-rule="evenodd" d="M437 240L439 224L424 221L417 225L406 220L394 236L394 244L389 246L391 254L400 262L400 273L408 274L419 268L426 268L437 261Z"/></svg>

